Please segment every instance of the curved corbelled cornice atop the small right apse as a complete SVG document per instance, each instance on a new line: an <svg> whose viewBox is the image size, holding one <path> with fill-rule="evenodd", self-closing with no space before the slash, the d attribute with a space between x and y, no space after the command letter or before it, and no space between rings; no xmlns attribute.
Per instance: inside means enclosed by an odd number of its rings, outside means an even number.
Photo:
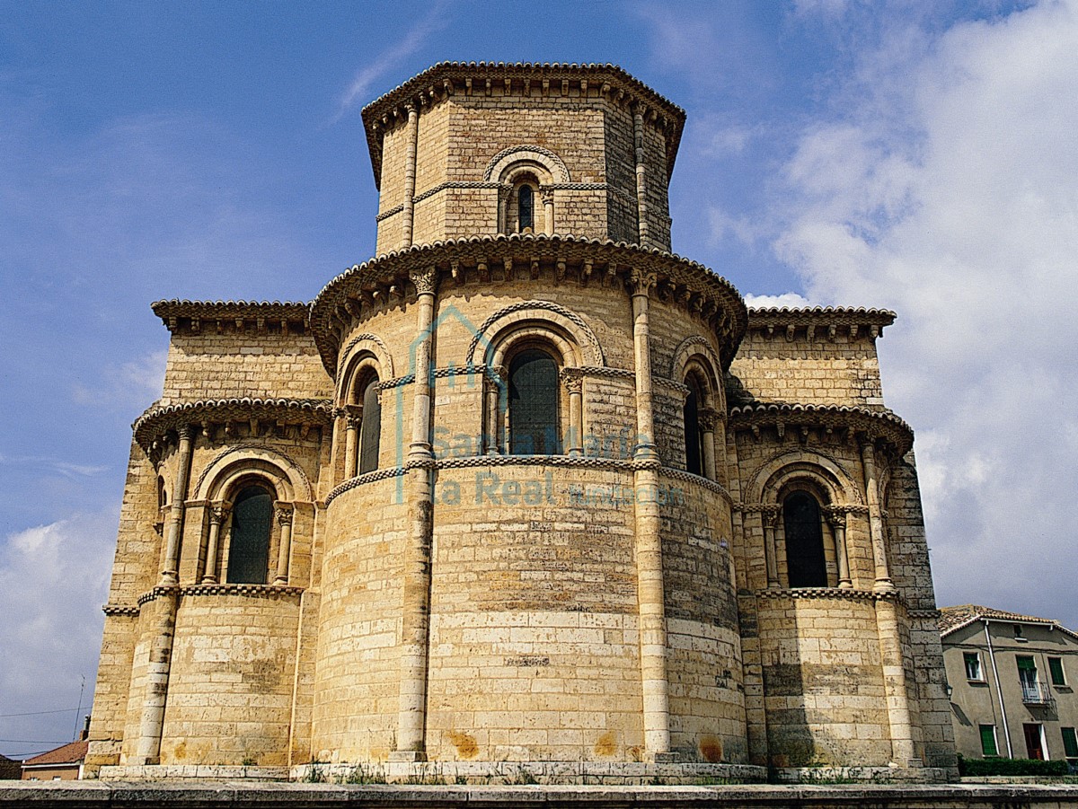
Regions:
<svg viewBox="0 0 1078 809"><path fill-rule="evenodd" d="M845 430L849 441L861 433L872 441L890 444L898 456L906 455L913 446L912 428L890 410L848 405L754 402L732 407L729 426L735 431L751 430L757 436L762 427L774 427L780 435L790 427Z"/></svg>

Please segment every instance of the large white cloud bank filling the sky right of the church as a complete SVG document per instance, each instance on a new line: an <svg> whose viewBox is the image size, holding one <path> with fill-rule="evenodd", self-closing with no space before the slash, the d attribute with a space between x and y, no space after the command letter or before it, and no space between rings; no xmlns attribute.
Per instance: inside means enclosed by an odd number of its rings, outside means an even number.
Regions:
<svg viewBox="0 0 1078 809"><path fill-rule="evenodd" d="M787 165L775 247L810 297L887 306L943 602L1078 626L1078 20L1041 3L862 55ZM903 116L896 125L896 112ZM1006 570L1006 574L1000 574Z"/></svg>

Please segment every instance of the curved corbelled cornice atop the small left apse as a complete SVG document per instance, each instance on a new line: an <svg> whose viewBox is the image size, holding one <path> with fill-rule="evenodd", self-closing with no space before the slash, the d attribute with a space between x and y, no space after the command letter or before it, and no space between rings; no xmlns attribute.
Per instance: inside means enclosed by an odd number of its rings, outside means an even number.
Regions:
<svg viewBox="0 0 1078 809"><path fill-rule="evenodd" d="M322 399L215 399L154 405L132 424L135 440L150 451L154 441L184 424L270 421L274 424L326 427L332 403Z"/></svg>

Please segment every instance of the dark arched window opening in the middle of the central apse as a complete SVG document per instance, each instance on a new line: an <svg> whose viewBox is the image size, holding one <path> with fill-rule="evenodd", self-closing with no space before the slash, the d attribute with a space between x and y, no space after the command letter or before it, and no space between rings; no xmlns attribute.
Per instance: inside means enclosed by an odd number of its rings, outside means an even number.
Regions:
<svg viewBox="0 0 1078 809"><path fill-rule="evenodd" d="M509 363L509 451L556 455L557 363L538 348L521 351Z"/></svg>

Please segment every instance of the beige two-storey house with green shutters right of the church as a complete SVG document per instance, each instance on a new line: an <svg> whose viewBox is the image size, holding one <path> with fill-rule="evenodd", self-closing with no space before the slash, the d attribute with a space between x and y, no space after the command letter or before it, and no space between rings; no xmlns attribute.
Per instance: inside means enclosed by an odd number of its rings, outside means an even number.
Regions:
<svg viewBox="0 0 1078 809"><path fill-rule="evenodd" d="M1078 634L1048 618L964 604L942 609L940 636L962 755L1078 766Z"/></svg>

